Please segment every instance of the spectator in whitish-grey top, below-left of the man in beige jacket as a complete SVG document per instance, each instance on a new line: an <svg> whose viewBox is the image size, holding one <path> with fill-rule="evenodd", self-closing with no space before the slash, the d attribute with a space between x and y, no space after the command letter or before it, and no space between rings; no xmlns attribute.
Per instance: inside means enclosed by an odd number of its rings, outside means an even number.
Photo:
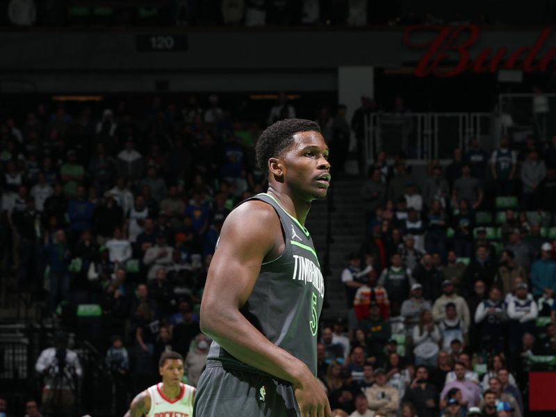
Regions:
<svg viewBox="0 0 556 417"><path fill-rule="evenodd" d="M411 340L414 344L416 366L436 368L441 334L432 320L430 310L421 311L419 323L413 328Z"/></svg>

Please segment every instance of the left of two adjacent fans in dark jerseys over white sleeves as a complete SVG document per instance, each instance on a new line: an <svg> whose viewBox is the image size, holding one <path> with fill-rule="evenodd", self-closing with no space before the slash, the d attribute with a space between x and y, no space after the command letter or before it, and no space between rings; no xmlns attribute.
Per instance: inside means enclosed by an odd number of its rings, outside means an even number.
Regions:
<svg viewBox="0 0 556 417"><path fill-rule="evenodd" d="M506 320L506 308L502 301L502 293L500 293L498 287L493 286L489 291L489 299L479 304L477 311L475 311L475 326L482 347L485 347L484 339L488 336L496 352L504 350L505 334L507 332Z"/></svg>

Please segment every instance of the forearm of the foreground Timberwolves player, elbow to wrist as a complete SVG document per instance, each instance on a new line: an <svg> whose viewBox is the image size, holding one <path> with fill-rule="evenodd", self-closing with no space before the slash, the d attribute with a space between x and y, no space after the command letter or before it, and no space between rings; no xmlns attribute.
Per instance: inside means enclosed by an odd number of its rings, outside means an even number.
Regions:
<svg viewBox="0 0 556 417"><path fill-rule="evenodd" d="M268 341L237 309L202 304L201 329L239 361L277 378L300 384L310 374L305 363Z"/></svg>

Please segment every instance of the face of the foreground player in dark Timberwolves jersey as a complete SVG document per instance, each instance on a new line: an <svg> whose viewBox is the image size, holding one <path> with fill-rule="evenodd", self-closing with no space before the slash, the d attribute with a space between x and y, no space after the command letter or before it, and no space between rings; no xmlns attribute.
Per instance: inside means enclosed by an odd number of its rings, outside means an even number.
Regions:
<svg viewBox="0 0 556 417"><path fill-rule="evenodd" d="M284 182L309 201L326 197L330 185L328 147L315 131L299 132L282 156Z"/></svg>

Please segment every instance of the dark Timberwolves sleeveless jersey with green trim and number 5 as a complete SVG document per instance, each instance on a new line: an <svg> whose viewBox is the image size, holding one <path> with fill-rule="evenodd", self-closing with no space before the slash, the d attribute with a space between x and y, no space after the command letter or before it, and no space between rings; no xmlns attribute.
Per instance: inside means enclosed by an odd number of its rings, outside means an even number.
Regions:
<svg viewBox="0 0 556 417"><path fill-rule="evenodd" d="M261 265L253 291L240 312L269 341L303 361L316 376L318 318L325 286L313 240L272 196L262 193L252 199L275 209L286 247L277 259ZM215 341L207 359L261 372L232 357Z"/></svg>

